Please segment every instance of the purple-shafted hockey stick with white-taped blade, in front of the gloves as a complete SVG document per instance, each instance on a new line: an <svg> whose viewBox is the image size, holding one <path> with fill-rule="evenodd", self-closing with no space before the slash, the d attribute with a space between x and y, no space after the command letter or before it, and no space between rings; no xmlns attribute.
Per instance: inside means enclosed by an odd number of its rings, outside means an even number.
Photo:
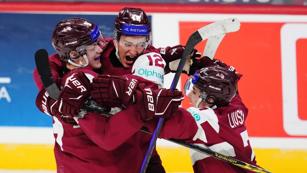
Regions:
<svg viewBox="0 0 307 173"><path fill-rule="evenodd" d="M198 43L208 39L209 37L213 37L213 36L224 34L224 33L235 32L239 29L240 29L240 22L238 21L238 19L230 18L230 19L225 19L225 20L221 20L221 21L211 23L207 26L204 26L204 27L198 29L194 33L192 33L190 35L190 37L188 38L187 44L185 46L185 50L183 51L183 54L182 54L180 63L178 65L178 68L176 70L175 77L173 79L173 83L171 85L170 90L173 91L174 88L176 88L177 83L178 83L179 78L180 78L180 75L181 75L181 72L182 72L182 69L185 65L185 62L187 61L190 52L192 52L192 50L194 49L194 47ZM150 156L153 152L154 146L156 145L157 138L158 138L158 135L161 131L161 127L162 127L163 122L164 122L164 118L159 118L157 127L156 127L155 131L153 132L153 136L151 138L149 148L148 148L146 155L145 155L145 158L143 160L140 173L145 173L145 171L146 171L146 168L147 168L149 160L150 160Z"/></svg>

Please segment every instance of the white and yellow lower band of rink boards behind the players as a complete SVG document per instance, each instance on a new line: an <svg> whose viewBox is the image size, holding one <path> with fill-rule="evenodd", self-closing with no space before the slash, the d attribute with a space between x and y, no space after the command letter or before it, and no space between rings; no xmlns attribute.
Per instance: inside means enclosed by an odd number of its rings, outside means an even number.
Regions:
<svg viewBox="0 0 307 173"><path fill-rule="evenodd" d="M52 128L1 127L0 170L55 170ZM27 135L28 134L28 135ZM29 135L32 134L32 135ZM14 137L12 137L14 136ZM31 136L39 136L36 140ZM35 144L34 144L35 143ZM272 172L301 172L305 165L306 138L250 137L257 163ZM158 139L157 151L167 172L193 172L189 150Z"/></svg>

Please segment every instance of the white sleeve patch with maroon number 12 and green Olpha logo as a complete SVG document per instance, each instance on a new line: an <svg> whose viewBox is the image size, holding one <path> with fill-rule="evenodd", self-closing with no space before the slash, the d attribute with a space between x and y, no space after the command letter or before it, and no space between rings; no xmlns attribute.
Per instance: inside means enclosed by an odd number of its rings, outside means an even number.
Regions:
<svg viewBox="0 0 307 173"><path fill-rule="evenodd" d="M141 55L132 66L132 74L143 77L159 85L164 86L165 61L159 53L150 52Z"/></svg>

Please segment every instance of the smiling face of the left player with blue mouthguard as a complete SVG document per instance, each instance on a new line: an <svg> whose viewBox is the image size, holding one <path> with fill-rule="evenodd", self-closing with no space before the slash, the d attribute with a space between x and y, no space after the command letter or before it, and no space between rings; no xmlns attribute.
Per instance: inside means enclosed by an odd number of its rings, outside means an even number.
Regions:
<svg viewBox="0 0 307 173"><path fill-rule="evenodd" d="M86 47L88 65L90 65L94 70L101 67L99 58L102 51L103 50L97 45L97 43L93 43Z"/></svg>

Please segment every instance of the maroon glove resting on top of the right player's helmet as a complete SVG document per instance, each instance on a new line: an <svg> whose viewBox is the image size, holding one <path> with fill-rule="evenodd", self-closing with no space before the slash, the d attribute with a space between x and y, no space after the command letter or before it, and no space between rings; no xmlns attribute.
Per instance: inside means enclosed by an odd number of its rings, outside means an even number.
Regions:
<svg viewBox="0 0 307 173"><path fill-rule="evenodd" d="M235 72L235 68L225 64L223 61L220 61L218 59L213 59L211 60L209 57L202 57L200 58L200 67L204 68L204 67L208 67L208 66L220 66L220 67L224 67L228 70L230 70L231 72L235 73L235 75L238 78L238 81L241 79L241 77L243 76L242 74Z"/></svg>

